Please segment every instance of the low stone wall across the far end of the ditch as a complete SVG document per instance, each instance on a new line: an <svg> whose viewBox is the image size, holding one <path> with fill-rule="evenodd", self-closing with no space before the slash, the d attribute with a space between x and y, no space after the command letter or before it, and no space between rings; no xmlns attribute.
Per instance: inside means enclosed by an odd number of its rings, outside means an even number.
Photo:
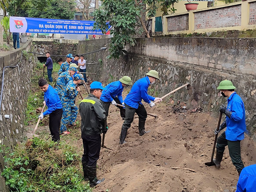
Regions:
<svg viewBox="0 0 256 192"><path fill-rule="evenodd" d="M59 43L52 41L33 41L34 51L36 53L44 54L44 55L36 55L37 57L45 57L46 52L50 52L51 55L67 55L68 53L75 54L77 44L70 43ZM57 61L60 57L51 56L52 60ZM62 57L63 60L66 60L66 57Z"/></svg>

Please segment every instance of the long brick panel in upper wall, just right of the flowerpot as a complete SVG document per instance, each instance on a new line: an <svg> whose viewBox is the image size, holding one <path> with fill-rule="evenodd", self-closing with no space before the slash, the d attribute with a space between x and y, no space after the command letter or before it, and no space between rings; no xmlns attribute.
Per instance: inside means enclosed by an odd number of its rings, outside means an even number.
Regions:
<svg viewBox="0 0 256 192"><path fill-rule="evenodd" d="M234 27L241 25L241 5L195 12L194 29Z"/></svg>

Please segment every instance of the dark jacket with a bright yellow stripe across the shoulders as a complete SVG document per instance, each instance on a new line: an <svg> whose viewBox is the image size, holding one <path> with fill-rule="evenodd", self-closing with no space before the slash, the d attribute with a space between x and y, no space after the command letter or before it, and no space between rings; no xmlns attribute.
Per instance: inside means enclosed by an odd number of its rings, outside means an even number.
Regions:
<svg viewBox="0 0 256 192"><path fill-rule="evenodd" d="M79 112L82 118L82 135L100 134L106 118L106 111L102 107L100 99L93 94L89 94L81 101Z"/></svg>

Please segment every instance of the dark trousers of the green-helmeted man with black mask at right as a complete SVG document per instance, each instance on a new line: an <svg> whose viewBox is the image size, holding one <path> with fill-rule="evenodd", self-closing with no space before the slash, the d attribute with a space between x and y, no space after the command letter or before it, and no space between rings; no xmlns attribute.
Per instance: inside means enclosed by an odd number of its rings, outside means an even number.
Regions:
<svg viewBox="0 0 256 192"><path fill-rule="evenodd" d="M244 164L241 158L240 141L227 140L226 134L225 132L223 132L217 139L217 152L223 153L226 146L228 146L229 156L231 158L232 163L236 166L237 172L240 173L244 168Z"/></svg>

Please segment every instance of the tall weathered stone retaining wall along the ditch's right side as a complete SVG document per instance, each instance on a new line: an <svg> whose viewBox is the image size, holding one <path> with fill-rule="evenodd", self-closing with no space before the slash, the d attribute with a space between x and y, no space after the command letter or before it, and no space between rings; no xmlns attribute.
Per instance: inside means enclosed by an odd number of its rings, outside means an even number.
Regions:
<svg viewBox="0 0 256 192"><path fill-rule="evenodd" d="M187 102L190 109L203 108L204 111L217 116L220 104L225 104L216 87L224 79L231 80L237 87L237 93L242 97L246 109L247 129L256 130L256 78L254 55L255 39L233 38L144 38L137 39L135 47L127 47L128 54L118 60L107 60L108 51L100 51L87 55L87 60L102 59L102 65L88 65L87 71L97 73L93 80L107 83L110 75L118 80L124 75L132 81L145 76L150 69L159 72L157 81L150 90L152 95L160 97L175 88L189 82L193 94L188 95L186 89L173 94L176 102ZM81 53L99 50L107 46L108 40L82 41L77 52ZM210 66L209 63L215 63ZM219 67L217 67L217 65ZM222 66L222 67L220 67Z"/></svg>

